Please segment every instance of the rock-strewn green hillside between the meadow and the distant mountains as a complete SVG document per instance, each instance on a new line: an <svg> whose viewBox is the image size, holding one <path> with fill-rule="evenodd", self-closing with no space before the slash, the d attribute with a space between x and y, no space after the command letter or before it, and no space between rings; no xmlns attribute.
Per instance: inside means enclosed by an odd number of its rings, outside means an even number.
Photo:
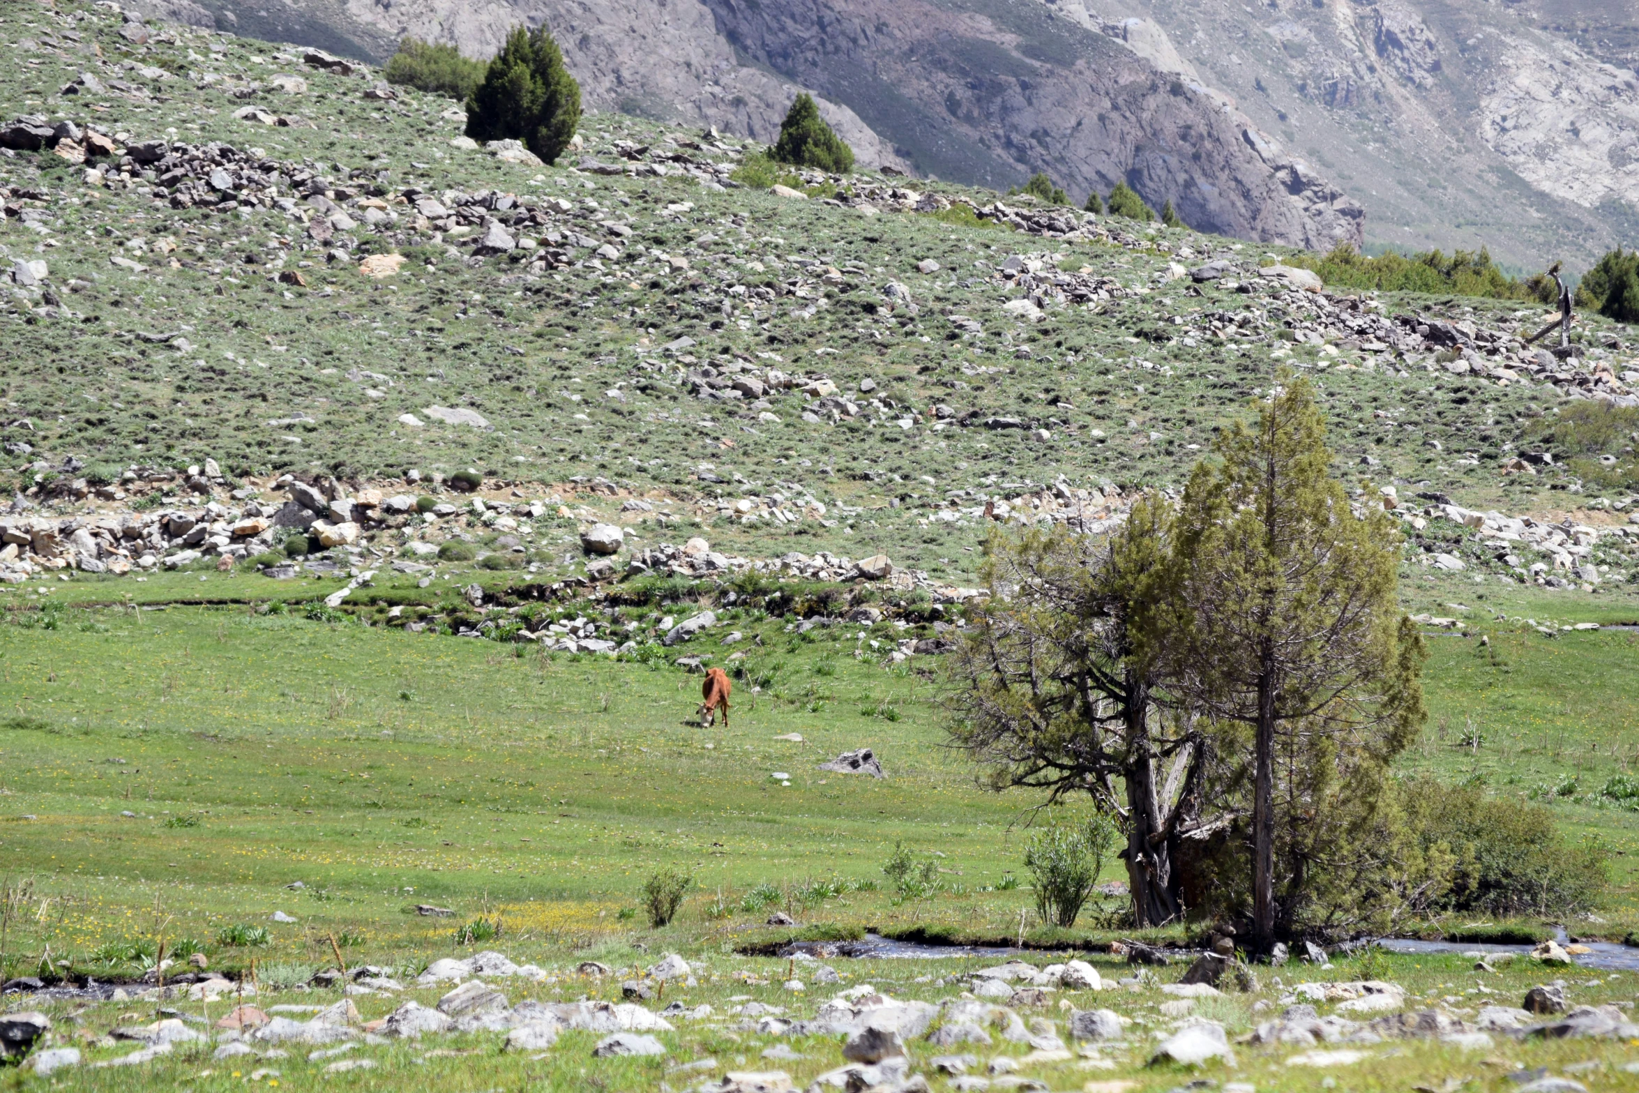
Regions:
<svg viewBox="0 0 1639 1093"><path fill-rule="evenodd" d="M544 167L369 67L100 7L0 11L0 41L11 575L269 565L298 533L361 572L465 544L585 575L703 537L944 588L997 521L1175 487L1280 369L1408 521L1457 503L1542 552L1626 526L1639 480L1619 416L1554 431L1639 401L1603 320L1549 352L1534 308L1333 293L1223 236L870 170L747 185L756 143L629 115ZM1569 569L1436 531L1431 565Z"/></svg>

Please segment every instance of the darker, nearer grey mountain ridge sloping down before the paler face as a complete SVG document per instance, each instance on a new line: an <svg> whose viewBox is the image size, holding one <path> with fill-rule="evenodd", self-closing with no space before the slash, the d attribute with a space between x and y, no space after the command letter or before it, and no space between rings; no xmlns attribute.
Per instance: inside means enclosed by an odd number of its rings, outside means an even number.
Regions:
<svg viewBox="0 0 1639 1093"><path fill-rule="evenodd" d="M166 18L382 59L403 34L492 52L546 21L597 110L760 141L797 90L865 166L997 188L1047 170L1080 202L1118 180L1193 226L1329 247L1360 205L1223 95L1034 2L141 0Z"/></svg>

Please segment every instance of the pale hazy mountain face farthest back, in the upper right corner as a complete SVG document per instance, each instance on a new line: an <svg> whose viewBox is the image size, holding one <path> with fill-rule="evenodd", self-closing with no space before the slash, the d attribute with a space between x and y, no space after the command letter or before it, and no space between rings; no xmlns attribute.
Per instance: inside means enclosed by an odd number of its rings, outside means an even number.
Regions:
<svg viewBox="0 0 1639 1093"><path fill-rule="evenodd" d="M1369 241L1587 265L1639 228L1634 0L1036 0L1216 88Z"/></svg>

